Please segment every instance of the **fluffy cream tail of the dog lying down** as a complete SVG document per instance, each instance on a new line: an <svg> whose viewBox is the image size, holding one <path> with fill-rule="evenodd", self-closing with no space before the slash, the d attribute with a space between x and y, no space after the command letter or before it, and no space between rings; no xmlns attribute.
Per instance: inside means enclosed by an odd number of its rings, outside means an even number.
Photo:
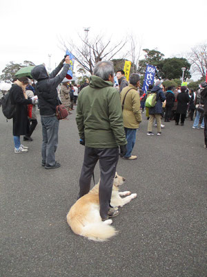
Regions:
<svg viewBox="0 0 207 277"><path fill-rule="evenodd" d="M88 240L95 240L104 242L108 238L116 235L117 231L114 227L108 225L106 222L91 223L83 227L80 235L87 237Z"/></svg>

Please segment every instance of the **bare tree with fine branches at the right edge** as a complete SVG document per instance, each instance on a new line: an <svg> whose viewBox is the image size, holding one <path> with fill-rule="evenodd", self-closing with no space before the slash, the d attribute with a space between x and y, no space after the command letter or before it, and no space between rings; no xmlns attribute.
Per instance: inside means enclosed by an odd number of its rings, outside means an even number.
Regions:
<svg viewBox="0 0 207 277"><path fill-rule="evenodd" d="M197 45L188 53L192 73L199 73L202 77L206 76L207 70L207 44Z"/></svg>

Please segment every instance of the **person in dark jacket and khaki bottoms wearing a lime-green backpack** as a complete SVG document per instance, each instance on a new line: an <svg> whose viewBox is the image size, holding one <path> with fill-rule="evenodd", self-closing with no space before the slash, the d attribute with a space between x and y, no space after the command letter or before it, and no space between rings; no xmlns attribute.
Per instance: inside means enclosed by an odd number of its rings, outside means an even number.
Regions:
<svg viewBox="0 0 207 277"><path fill-rule="evenodd" d="M166 96L164 96L164 92L161 89L161 81L157 80L155 82L155 87L152 88L151 93L157 93L156 96L156 104L155 107L149 108L149 116L150 119L148 120L148 132L147 135L154 135L152 132L152 124L156 118L157 120L157 136L161 135L161 114L162 114L162 102L166 100Z"/></svg>

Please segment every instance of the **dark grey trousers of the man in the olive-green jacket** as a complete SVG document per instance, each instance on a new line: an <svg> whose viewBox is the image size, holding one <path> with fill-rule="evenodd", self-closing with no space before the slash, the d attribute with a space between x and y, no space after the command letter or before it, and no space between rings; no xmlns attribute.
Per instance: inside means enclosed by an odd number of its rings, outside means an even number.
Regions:
<svg viewBox="0 0 207 277"><path fill-rule="evenodd" d="M119 160L119 148L85 148L83 167L79 179L78 198L89 192L92 172L94 172L98 160L101 170L99 183L100 215L102 219L106 219L110 207L113 178Z"/></svg>

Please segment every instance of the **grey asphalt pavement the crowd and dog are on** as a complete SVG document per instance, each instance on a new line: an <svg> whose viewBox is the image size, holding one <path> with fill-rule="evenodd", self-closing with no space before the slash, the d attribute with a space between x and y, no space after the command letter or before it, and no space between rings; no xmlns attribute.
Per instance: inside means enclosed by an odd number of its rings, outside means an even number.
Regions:
<svg viewBox="0 0 207 277"><path fill-rule="evenodd" d="M76 109L76 107L75 107ZM204 130L166 123L147 136L137 131L135 161L119 159L121 190L137 198L120 208L108 242L75 235L66 222L79 190L83 146L75 123L61 120L57 169L41 166L41 123L28 153L14 154L12 120L0 110L1 277L206 277L207 150ZM156 128L153 131L156 133ZM95 180L99 179L99 166Z"/></svg>

